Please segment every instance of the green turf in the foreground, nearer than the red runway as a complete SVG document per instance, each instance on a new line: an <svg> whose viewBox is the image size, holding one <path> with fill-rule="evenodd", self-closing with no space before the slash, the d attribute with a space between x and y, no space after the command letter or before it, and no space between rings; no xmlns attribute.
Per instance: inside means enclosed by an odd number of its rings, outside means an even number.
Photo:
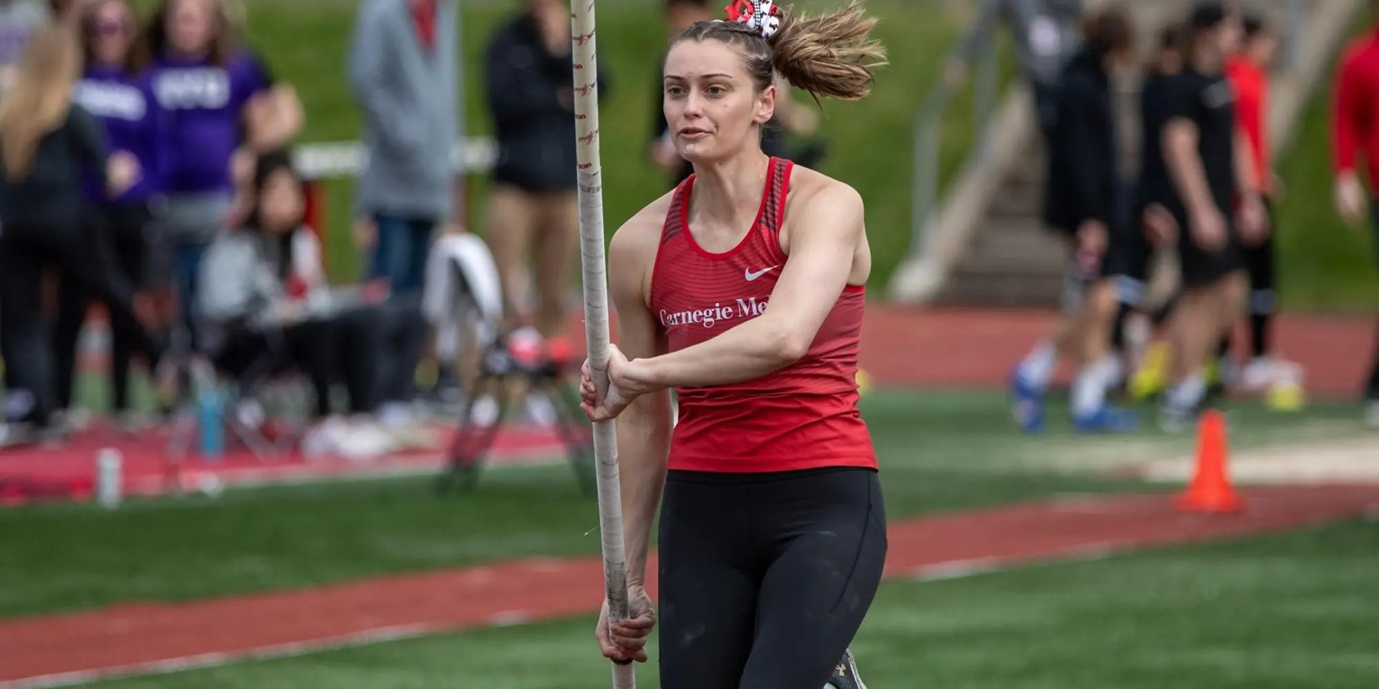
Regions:
<svg viewBox="0 0 1379 689"><path fill-rule="evenodd" d="M873 686L1368 689L1379 686L1376 539L1379 526L1356 521L889 583L854 648ZM592 619L527 624L95 686L605 688L592 628ZM655 666L638 666L637 682L658 686Z"/></svg>

